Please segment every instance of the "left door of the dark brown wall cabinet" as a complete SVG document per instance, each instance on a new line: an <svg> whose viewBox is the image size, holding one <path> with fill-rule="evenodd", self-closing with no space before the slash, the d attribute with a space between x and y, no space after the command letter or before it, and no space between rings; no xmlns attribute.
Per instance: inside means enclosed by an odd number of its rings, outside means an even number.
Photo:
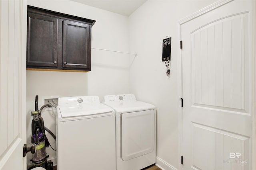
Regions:
<svg viewBox="0 0 256 170"><path fill-rule="evenodd" d="M27 68L57 68L58 19L28 13Z"/></svg>

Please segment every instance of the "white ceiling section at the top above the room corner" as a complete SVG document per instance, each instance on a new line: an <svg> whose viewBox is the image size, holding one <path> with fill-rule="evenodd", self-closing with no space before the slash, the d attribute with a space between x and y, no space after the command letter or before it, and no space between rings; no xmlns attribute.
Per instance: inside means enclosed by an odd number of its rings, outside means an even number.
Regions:
<svg viewBox="0 0 256 170"><path fill-rule="evenodd" d="M107 10L124 16L130 16L146 0L72 0L102 10Z"/></svg>

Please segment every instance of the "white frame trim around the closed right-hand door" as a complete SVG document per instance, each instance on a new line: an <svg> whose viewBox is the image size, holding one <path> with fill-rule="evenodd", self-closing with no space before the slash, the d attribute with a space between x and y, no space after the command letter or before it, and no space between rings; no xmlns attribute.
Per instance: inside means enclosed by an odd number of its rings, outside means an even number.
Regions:
<svg viewBox="0 0 256 170"><path fill-rule="evenodd" d="M195 12L194 14L191 14L190 16L178 21L177 23L177 29L178 29L178 38L180 40L182 40L182 36L181 36L181 25L193 20L194 18L197 18L199 16L201 16L202 14L206 14L207 12L210 12L224 4L227 4L229 2L231 2L233 0L219 0L213 4L211 4L210 6L207 6L205 8L203 8L202 10L199 10L198 12ZM256 90L256 1L252 0L252 55L253 57L253 64L252 64L252 92L253 92L253 98L252 98L252 125L254 125L252 127L252 169L256 169L256 114L255 114L255 110L256 110L256 104L255 104L255 90ZM182 98L183 96L183 90L182 90L182 50L180 49L180 47L178 46L177 51L180 51L180 59L177 60L177 85L178 85L178 90L177 90L177 103L178 103L178 170L182 169L182 164L181 164L181 156L182 156L182 119L183 119L183 110L181 107L181 101L179 98Z"/></svg>

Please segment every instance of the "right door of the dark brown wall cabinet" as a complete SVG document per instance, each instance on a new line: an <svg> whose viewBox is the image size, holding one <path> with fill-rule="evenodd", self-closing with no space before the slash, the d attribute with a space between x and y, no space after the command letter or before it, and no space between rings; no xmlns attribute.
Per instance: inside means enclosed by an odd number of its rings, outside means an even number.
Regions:
<svg viewBox="0 0 256 170"><path fill-rule="evenodd" d="M90 25L63 21L62 68L91 70Z"/></svg>

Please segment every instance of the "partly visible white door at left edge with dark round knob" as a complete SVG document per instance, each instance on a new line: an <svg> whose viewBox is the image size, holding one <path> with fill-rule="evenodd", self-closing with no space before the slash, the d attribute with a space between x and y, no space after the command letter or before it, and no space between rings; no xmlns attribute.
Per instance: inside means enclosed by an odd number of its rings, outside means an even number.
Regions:
<svg viewBox="0 0 256 170"><path fill-rule="evenodd" d="M0 1L0 170L25 170L26 2Z"/></svg>

